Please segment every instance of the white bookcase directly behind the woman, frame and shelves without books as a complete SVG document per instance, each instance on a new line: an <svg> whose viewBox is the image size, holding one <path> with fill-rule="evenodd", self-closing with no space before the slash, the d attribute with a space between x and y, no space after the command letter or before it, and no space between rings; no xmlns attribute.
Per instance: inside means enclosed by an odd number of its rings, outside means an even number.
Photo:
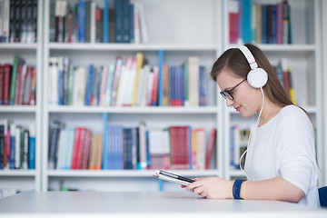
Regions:
<svg viewBox="0 0 327 218"><path fill-rule="evenodd" d="M281 1L253 0L253 3L276 4ZM289 1L292 15L292 45L258 45L263 53L267 55L271 64L278 64L281 57L286 57L292 66L292 80L297 103L301 105L311 116L312 122L317 130L317 157L320 166L323 165L325 157L323 144L322 123L322 38L321 38L321 1L301 0ZM223 35L223 49L235 47L229 44L229 1L223 1L223 13L225 32ZM301 25L300 25L301 24ZM224 102L223 102L224 104ZM240 170L233 170L230 166L230 126L239 124L250 126L251 119L243 119L233 108L225 108L223 111L225 120L224 138L224 175L226 178L243 177ZM253 124L255 123L255 119ZM323 174L320 175L320 184L326 183Z"/></svg>

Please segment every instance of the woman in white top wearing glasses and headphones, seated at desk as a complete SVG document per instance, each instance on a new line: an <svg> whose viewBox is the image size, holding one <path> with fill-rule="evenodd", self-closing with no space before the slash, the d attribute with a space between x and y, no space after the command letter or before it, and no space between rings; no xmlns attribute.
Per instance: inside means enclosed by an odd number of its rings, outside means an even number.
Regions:
<svg viewBox="0 0 327 218"><path fill-rule="evenodd" d="M292 104L263 52L250 44L231 48L213 64L211 77L228 107L243 117L259 114L247 148L247 180L202 177L183 187L210 199L320 205L312 121Z"/></svg>

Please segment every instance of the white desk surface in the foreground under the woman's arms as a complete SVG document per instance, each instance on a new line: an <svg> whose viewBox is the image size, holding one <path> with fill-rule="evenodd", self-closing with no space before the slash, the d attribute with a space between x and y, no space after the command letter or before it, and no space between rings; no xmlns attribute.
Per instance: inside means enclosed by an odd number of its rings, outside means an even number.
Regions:
<svg viewBox="0 0 327 218"><path fill-rule="evenodd" d="M24 214L22 214L24 213ZM275 201L208 200L189 192L26 192L0 199L0 217L327 217L327 210Z"/></svg>

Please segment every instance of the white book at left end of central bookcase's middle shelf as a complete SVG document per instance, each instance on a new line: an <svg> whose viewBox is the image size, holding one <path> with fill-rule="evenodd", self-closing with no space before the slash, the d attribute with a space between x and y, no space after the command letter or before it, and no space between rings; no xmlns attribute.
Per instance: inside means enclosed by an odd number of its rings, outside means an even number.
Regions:
<svg viewBox="0 0 327 218"><path fill-rule="evenodd" d="M49 58L49 68L48 68L48 103L58 104L58 58Z"/></svg>

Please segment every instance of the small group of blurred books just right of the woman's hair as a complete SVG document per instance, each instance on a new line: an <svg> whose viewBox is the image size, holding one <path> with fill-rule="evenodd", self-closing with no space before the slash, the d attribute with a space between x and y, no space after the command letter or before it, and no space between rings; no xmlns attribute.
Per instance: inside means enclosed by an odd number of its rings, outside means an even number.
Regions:
<svg viewBox="0 0 327 218"><path fill-rule="evenodd" d="M292 83L292 68L288 64L287 59L282 58L279 64L273 65L273 69L275 70L286 93L290 96L292 103L296 104L295 91Z"/></svg>

